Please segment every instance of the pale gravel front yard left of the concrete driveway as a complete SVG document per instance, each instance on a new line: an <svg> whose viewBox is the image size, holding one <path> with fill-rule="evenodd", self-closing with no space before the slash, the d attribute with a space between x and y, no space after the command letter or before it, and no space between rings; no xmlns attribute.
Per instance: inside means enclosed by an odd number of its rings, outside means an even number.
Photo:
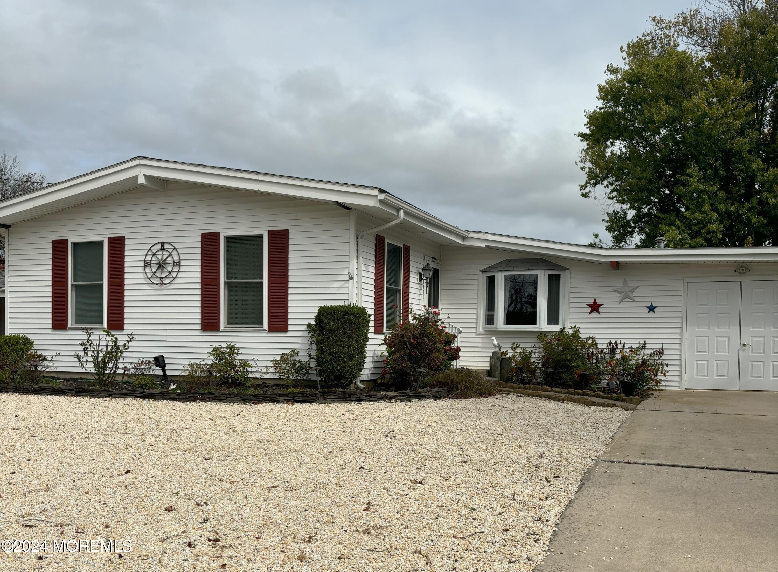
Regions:
<svg viewBox="0 0 778 572"><path fill-rule="evenodd" d="M0 394L0 540L48 541L0 551L0 569L531 570L628 415L517 395ZM54 539L129 540L131 552L54 553Z"/></svg>

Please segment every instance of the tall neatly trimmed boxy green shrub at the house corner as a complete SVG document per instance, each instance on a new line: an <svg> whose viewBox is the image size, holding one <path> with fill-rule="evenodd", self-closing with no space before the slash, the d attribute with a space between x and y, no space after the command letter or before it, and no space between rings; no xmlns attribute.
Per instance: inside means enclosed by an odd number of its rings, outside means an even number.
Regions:
<svg viewBox="0 0 778 572"><path fill-rule="evenodd" d="M320 306L308 332L308 357L321 367L319 377L326 387L345 388L359 378L370 333L370 314L365 308L356 304Z"/></svg>

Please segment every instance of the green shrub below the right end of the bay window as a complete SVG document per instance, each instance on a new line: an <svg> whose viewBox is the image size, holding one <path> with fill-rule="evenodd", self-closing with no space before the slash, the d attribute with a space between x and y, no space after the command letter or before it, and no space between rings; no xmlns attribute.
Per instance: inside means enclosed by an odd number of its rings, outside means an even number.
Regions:
<svg viewBox="0 0 778 572"><path fill-rule="evenodd" d="M578 326L561 328L553 334L538 335L541 374L545 384L552 387L574 388L581 371L591 375L591 381L600 377L598 346L593 335L586 338Z"/></svg>

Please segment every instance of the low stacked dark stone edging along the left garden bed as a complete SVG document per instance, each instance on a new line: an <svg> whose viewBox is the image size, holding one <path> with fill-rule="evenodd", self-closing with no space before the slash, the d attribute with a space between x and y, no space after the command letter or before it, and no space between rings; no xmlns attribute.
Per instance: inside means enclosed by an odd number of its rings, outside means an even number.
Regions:
<svg viewBox="0 0 778 572"><path fill-rule="evenodd" d="M423 388L418 391L356 391L354 389L324 389L290 393L219 393L218 391L168 391L164 389L65 387L48 384L0 385L0 392L32 395L75 395L91 398L164 399L186 402L271 402L271 403L343 403L373 401L415 401L446 397L445 389Z"/></svg>

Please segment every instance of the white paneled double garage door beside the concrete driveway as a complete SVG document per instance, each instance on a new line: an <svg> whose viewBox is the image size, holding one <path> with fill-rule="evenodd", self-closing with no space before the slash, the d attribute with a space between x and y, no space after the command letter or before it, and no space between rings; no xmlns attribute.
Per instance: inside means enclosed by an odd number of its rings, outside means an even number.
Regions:
<svg viewBox="0 0 778 572"><path fill-rule="evenodd" d="M778 281L689 282L686 388L778 391Z"/></svg>

